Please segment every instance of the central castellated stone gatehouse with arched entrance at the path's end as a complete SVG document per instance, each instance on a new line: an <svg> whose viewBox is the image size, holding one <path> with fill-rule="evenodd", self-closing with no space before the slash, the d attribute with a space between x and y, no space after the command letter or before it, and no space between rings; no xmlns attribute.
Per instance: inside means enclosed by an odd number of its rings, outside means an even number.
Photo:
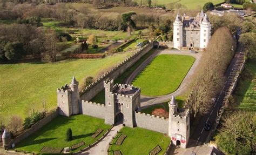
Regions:
<svg viewBox="0 0 256 155"><path fill-rule="evenodd" d="M132 85L115 84L107 79L105 87L105 123L136 126L135 111L140 109L140 89Z"/></svg>

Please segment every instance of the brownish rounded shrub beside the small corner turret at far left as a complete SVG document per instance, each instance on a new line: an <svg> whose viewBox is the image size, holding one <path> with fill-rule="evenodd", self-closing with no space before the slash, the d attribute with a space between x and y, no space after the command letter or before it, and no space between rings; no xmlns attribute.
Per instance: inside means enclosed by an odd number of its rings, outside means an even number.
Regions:
<svg viewBox="0 0 256 155"><path fill-rule="evenodd" d="M13 136L17 136L18 133L22 131L22 118L19 116L12 116L6 129L8 129Z"/></svg>

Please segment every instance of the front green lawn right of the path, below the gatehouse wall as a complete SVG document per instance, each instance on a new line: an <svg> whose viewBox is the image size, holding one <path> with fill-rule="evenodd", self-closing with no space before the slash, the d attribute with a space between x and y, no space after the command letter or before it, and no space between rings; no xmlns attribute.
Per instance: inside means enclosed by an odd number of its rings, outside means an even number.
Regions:
<svg viewBox="0 0 256 155"><path fill-rule="evenodd" d="M123 141L122 145L115 145L116 140L120 134L125 134L127 137ZM164 154L168 145L170 144L170 138L163 133L141 129L138 127L130 128L124 127L120 130L120 133L112 141L109 147L109 154L113 154L113 151L120 150L125 155L143 155L149 154L151 150L157 145L161 147L161 151L158 154Z"/></svg>

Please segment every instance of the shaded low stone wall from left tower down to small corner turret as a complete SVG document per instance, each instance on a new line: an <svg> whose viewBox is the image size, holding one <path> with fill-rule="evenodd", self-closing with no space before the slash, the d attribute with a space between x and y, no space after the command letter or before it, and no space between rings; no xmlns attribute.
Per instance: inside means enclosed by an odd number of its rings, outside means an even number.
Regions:
<svg viewBox="0 0 256 155"><path fill-rule="evenodd" d="M36 124L32 125L30 129L25 130L24 132L19 134L18 137L16 137L15 139L12 139L10 144L19 143L20 141L24 140L25 138L29 137L31 134L41 129L44 125L51 122L51 120L57 116L58 116L58 110L56 109L52 113L47 114L43 119L39 120Z"/></svg>

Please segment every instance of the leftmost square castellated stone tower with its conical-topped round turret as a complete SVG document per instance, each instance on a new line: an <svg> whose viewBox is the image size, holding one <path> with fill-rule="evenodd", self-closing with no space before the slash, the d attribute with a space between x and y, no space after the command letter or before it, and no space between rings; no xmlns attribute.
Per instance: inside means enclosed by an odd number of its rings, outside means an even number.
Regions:
<svg viewBox="0 0 256 155"><path fill-rule="evenodd" d="M72 78L70 85L62 86L57 89L58 112L63 116L71 116L79 113L79 91L78 82L75 77Z"/></svg>

